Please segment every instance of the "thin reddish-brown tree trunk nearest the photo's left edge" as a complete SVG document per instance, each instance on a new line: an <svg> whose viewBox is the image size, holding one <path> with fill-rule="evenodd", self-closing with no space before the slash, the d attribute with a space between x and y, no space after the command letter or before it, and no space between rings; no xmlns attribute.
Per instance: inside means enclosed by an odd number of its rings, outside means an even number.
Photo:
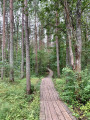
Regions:
<svg viewBox="0 0 90 120"><path fill-rule="evenodd" d="M2 37L2 62L4 64L5 58L5 0L3 0L3 37ZM4 67L1 71L1 79L4 77Z"/></svg>

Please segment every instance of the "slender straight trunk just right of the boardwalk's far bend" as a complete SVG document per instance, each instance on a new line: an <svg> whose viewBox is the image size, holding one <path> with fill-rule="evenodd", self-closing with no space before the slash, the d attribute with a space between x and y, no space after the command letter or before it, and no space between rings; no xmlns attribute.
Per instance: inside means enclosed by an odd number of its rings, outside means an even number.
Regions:
<svg viewBox="0 0 90 120"><path fill-rule="evenodd" d="M58 34L58 13L56 12L56 34ZM56 35L56 57L57 57L57 75L60 77L60 65L59 65L59 45L58 35Z"/></svg>

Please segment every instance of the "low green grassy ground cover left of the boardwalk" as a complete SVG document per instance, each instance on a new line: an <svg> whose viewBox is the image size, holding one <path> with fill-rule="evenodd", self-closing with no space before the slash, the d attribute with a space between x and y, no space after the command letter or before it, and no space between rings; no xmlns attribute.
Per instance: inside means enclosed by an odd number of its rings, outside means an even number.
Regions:
<svg viewBox="0 0 90 120"><path fill-rule="evenodd" d="M31 95L26 95L26 79L14 83L0 81L0 120L39 120L38 78L31 78Z"/></svg>

